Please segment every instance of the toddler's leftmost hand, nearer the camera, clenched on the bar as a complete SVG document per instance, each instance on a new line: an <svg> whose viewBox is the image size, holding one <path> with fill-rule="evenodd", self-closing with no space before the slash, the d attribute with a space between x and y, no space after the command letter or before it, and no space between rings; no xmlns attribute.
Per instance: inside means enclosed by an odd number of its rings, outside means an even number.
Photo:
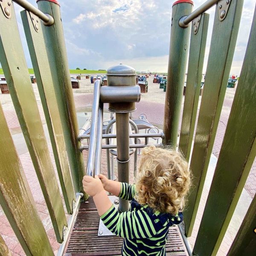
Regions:
<svg viewBox="0 0 256 256"><path fill-rule="evenodd" d="M95 196L96 194L104 191L102 182L98 176L95 176L95 178L91 176L84 176L83 188L84 192L86 192L90 196Z"/></svg>

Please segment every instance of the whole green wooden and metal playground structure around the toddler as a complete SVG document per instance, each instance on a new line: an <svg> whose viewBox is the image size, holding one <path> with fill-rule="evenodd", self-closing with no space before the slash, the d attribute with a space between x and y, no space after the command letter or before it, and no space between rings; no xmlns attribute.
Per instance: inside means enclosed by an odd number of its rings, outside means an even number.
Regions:
<svg viewBox="0 0 256 256"><path fill-rule="evenodd" d="M37 102L26 67L13 2L25 9L21 12L23 27L47 120L65 207L70 214L68 221L64 213L57 178L49 156ZM25 0L2 0L0 5L0 62L47 203L56 240L61 243L58 255L64 253L77 211L79 211L79 218L76 219L75 229L67 248L69 255L76 255L76 253L120 255L122 239L98 236L98 231L93 233L94 230L98 230L98 227L95 226L99 221L99 216L93 208L91 198L87 200L87 196L84 195L81 180L85 173L87 175L99 173L102 149L108 149L111 154L114 154L114 151L111 150L116 149L118 179L129 182L130 153L134 151L134 148L147 145L147 137L154 137L154 134L150 132L139 134L137 127L140 124L138 123L136 126L130 119L130 113L135 110L135 102L140 101L140 88L136 85L135 80L136 72L133 68L125 65L111 67L107 71L108 86L105 87L102 86L100 79L95 78L90 134L84 135L84 139L89 139L89 145L82 145L80 140L83 135L79 137L58 2L56 0L38 0L39 9ZM212 42L192 149L209 22L209 15L205 11L213 5L216 5L216 11ZM195 246L192 249L187 237L192 234L200 204L236 46L243 1L208 0L194 12L192 12L192 6L191 0L179 0L172 6L163 144L173 145L173 147L177 145L185 79L184 70L189 57L178 147L187 160L190 159L190 168L195 178L194 189L189 195L187 210L184 212L184 222L178 228L189 255L208 256L216 255L218 252L256 155L256 73L254 70L256 65L254 50L256 14L253 17L244 64L207 204ZM46 38L47 44L44 43ZM177 60L180 60L178 64ZM109 122L109 124L112 122L111 125L115 122L115 134L111 127L108 130L108 132L111 131L111 134L107 132L108 127L105 134L102 134L103 104L107 103L109 111L115 113L115 118ZM145 121L143 117L139 119ZM129 123L134 127L134 133L131 133L132 129ZM27 184L2 108L0 108L0 128L1 207L27 255L54 255L35 207L35 201ZM163 137L162 133L155 135L157 135L156 138ZM138 143L137 139L140 137L145 138L144 144ZM113 140L112 143L102 145L102 138L116 139L116 141ZM130 138L134 140L130 142ZM88 149L86 171L81 153L85 149ZM135 151L131 154L136 155ZM111 173L108 175L111 177ZM81 201L83 201L82 204ZM129 207L129 202L123 199L119 199L117 204L121 211L125 211ZM253 255L255 253L255 212L256 197L254 196L243 225L227 252L228 256ZM83 218L84 222L80 222L81 216L86 216ZM90 223L87 223L88 221ZM92 230L91 233L90 230ZM91 235L92 233L93 235ZM170 243L170 241L172 240L170 239L174 233L177 238L179 236L177 228L170 230L169 243L166 246L167 255L186 255L184 250L171 248L172 242ZM82 242L79 243L79 241ZM182 247L182 244L178 247ZM10 255L1 236L0 252L3 255Z"/></svg>

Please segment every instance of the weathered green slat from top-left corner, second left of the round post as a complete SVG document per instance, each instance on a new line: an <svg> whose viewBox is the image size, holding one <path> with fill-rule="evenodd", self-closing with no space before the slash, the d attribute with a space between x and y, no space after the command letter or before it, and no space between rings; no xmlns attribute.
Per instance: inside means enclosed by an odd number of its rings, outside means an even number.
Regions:
<svg viewBox="0 0 256 256"><path fill-rule="evenodd" d="M61 242L63 227L67 226L67 220L29 77L13 4L10 19L0 12L0 24L0 61L3 72L47 203L57 240Z"/></svg>

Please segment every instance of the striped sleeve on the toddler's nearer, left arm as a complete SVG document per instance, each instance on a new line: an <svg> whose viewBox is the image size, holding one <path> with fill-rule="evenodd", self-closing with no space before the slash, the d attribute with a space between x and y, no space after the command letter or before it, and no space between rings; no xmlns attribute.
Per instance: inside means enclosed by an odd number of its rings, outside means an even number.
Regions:
<svg viewBox="0 0 256 256"><path fill-rule="evenodd" d="M100 218L112 233L123 238L151 238L157 233L153 221L143 210L119 213L112 205Z"/></svg>

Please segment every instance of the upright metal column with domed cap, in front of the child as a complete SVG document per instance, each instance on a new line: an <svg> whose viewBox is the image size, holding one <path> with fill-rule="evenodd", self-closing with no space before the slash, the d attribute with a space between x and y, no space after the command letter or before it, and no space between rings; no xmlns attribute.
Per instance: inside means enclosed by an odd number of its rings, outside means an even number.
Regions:
<svg viewBox="0 0 256 256"><path fill-rule="evenodd" d="M108 87L136 86L136 72L127 65L116 65L107 70ZM114 89L114 87L113 87ZM114 89L116 92L116 89ZM109 111L116 113L116 142L118 180L129 183L129 113L135 111L135 102L125 102L127 96L120 95L120 102L109 103ZM139 97L139 95L138 95ZM119 210L128 211L129 201L119 198Z"/></svg>

